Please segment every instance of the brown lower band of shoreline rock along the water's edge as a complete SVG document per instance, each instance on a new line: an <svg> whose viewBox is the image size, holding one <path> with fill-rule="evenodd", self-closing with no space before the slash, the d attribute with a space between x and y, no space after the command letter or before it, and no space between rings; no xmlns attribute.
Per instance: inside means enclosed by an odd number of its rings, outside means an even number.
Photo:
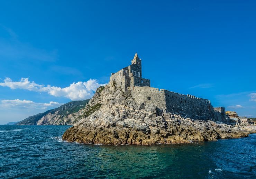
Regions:
<svg viewBox="0 0 256 179"><path fill-rule="evenodd" d="M202 122L201 122L202 123ZM73 126L65 131L63 139L68 142L77 142L83 144L104 144L104 145L158 145L158 144L184 144L191 141L211 141L218 139L247 137L249 134L256 133L256 126L250 127L233 127L226 124L217 124L213 127L214 122L210 122L212 128L202 131L200 128L194 129L193 132L189 127L183 124L173 135L149 134L143 131L135 131L116 127L84 127ZM205 122L204 125L208 125ZM202 126L201 126L202 127ZM190 135L188 135L190 134Z"/></svg>

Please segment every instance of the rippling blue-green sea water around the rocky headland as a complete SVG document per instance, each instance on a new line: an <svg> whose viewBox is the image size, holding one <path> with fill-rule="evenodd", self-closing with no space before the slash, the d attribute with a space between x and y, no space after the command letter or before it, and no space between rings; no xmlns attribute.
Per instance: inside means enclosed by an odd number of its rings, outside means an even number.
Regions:
<svg viewBox="0 0 256 179"><path fill-rule="evenodd" d="M192 144L67 143L70 126L0 126L0 178L256 178L256 134Z"/></svg>

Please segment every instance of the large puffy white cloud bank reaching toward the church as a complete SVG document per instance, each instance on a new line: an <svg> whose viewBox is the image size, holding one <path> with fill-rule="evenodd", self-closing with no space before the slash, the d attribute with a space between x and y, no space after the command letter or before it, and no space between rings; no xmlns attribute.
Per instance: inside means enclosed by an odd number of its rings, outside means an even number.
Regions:
<svg viewBox="0 0 256 179"><path fill-rule="evenodd" d="M91 98L93 93L99 86L106 84L99 84L97 80L88 80L87 82L72 83L65 88L40 85L34 81L30 82L28 78L21 78L20 81L13 82L11 78L6 77L0 86L10 87L11 89L26 89L35 92L46 92L56 97L66 97L71 100L83 100Z"/></svg>

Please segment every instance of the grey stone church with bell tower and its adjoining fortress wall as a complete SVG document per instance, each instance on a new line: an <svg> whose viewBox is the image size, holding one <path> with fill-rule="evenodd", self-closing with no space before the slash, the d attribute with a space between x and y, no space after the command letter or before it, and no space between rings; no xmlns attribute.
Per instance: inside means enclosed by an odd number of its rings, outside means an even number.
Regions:
<svg viewBox="0 0 256 179"><path fill-rule="evenodd" d="M150 87L150 80L142 78L141 59L137 53L131 63L118 72L111 73L110 76L110 83L116 87L121 87L125 96L130 96L141 103L155 105L167 112L179 113L190 118L225 121L225 108L213 108L208 99Z"/></svg>

